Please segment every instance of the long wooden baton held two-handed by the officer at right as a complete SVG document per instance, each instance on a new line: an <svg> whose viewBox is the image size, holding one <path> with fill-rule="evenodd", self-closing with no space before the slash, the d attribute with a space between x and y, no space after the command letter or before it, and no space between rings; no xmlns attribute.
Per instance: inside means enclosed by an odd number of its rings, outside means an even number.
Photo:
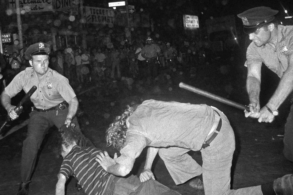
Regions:
<svg viewBox="0 0 293 195"><path fill-rule="evenodd" d="M229 105L229 106L233 106L234 108L238 108L238 109L241 109L241 110L247 110L248 112L250 112L250 109L248 106L244 106L242 104L239 104L235 101L232 101L232 100L228 100L226 98L223 98L221 96L218 96L218 95L215 95L215 94L212 94L210 92L207 92L207 91L204 91L204 90L201 90L199 88L196 88L196 87L193 87L193 86L190 86L190 85L187 85L185 83L179 83L179 87L183 88L183 89L186 89L186 90L189 90L189 91L192 91L196 94L200 94L200 95L203 95L207 98L211 98L213 100L216 100L216 101L219 101L219 102L222 102L226 105Z"/></svg>

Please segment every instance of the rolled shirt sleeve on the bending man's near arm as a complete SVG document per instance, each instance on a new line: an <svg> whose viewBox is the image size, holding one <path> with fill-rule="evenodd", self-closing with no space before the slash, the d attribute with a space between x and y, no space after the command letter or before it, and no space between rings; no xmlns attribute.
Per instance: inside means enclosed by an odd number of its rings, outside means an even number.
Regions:
<svg viewBox="0 0 293 195"><path fill-rule="evenodd" d="M146 146L147 141L144 136L127 132L124 147L120 150L121 156L116 159L116 162L131 170L135 159L139 157Z"/></svg>

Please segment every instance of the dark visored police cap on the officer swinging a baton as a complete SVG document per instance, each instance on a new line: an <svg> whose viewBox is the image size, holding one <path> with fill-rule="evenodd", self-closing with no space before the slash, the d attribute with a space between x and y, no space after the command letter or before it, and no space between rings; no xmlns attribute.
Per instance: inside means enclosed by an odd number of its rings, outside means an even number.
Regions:
<svg viewBox="0 0 293 195"><path fill-rule="evenodd" d="M273 21L278 12L278 10L262 6L248 9L237 16L242 19L244 33L251 34L263 25Z"/></svg>

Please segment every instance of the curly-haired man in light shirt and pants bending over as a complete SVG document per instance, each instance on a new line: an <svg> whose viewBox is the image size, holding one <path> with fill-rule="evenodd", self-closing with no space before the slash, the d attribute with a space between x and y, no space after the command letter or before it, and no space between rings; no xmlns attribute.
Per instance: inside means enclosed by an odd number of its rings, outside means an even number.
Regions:
<svg viewBox="0 0 293 195"><path fill-rule="evenodd" d="M220 110L205 104L144 101L116 118L107 130L107 142L121 149L121 156L112 159L107 152L100 152L96 161L116 176L127 175L143 148L149 146L141 181L154 178L151 166L159 153L176 184L202 173L206 195L293 194L292 174L267 184L230 190L233 129ZM190 150L201 151L202 167L187 154Z"/></svg>

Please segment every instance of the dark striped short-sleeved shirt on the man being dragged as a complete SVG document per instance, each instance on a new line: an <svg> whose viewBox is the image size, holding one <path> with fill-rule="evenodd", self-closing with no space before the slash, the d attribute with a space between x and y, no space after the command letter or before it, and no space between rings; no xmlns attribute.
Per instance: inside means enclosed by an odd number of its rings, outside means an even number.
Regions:
<svg viewBox="0 0 293 195"><path fill-rule="evenodd" d="M74 176L88 195L108 194L108 185L114 176L95 160L101 150L94 147L74 146L64 158L60 171L66 179Z"/></svg>

